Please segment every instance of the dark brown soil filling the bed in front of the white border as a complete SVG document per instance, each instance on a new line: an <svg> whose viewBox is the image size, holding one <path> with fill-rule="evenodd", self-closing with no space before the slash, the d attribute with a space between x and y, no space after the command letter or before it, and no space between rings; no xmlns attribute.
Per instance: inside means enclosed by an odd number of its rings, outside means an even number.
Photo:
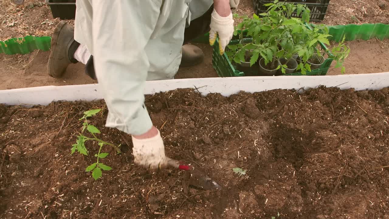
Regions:
<svg viewBox="0 0 389 219"><path fill-rule="evenodd" d="M146 96L168 156L201 165L221 191L182 187L184 171L133 164L130 136L104 127L97 102L0 106L1 218L381 218L389 217L389 89L272 90ZM122 143L102 179L93 155L70 155L82 112ZM87 143L90 154L97 145ZM239 177L232 168L247 170ZM279 215L279 216L277 216Z"/></svg>

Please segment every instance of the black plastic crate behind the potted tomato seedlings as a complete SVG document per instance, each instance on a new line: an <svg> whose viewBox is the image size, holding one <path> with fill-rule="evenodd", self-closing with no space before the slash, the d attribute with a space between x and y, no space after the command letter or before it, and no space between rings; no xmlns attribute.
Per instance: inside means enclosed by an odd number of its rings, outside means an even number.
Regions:
<svg viewBox="0 0 389 219"><path fill-rule="evenodd" d="M273 2L274 0L253 0L252 1L252 3L254 4L254 10L257 15L266 12L268 7L266 7L265 4L273 3ZM307 5L307 7L311 10L310 21L324 20L324 16L326 15L326 11L329 4L329 0L292 0L286 2L293 3L293 4ZM298 17L296 13L293 13L292 16L296 18Z"/></svg>

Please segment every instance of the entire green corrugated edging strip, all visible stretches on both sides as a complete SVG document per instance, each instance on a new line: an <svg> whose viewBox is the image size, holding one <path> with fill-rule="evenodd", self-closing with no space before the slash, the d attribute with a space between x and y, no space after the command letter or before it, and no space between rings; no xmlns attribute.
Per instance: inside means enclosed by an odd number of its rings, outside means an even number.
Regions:
<svg viewBox="0 0 389 219"><path fill-rule="evenodd" d="M314 24L312 24L314 26ZM389 25L376 23L376 24L363 24L363 25L336 25L328 26L329 34L333 37L331 40L340 42L343 39L343 35L346 36L346 41L353 41L357 39L369 40L377 37L377 39L384 40L389 39ZM12 38L7 41L0 41L0 53L7 55L13 54L27 54L31 53L35 49L43 51L50 50L51 37L34 37L26 36L22 38ZM205 34L193 42L209 43L209 34Z"/></svg>

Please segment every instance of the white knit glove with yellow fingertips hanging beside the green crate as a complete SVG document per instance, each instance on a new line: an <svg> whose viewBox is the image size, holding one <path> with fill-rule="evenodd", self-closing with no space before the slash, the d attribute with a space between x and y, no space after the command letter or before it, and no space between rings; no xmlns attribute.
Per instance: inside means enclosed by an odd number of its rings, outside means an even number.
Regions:
<svg viewBox="0 0 389 219"><path fill-rule="evenodd" d="M219 52L223 55L224 49L230 43L232 35L234 34L234 19L232 13L227 17L221 17L217 12L212 12L211 24L209 25L209 44L214 45L217 35L219 35Z"/></svg>

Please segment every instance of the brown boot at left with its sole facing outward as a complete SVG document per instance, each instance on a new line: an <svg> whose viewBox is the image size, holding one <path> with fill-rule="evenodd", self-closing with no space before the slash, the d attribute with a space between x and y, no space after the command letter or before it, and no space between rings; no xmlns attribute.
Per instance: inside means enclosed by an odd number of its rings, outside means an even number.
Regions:
<svg viewBox="0 0 389 219"><path fill-rule="evenodd" d="M61 78L69 64L78 62L73 55L79 45L74 40L74 27L60 21L51 37L51 53L47 64L51 77Z"/></svg>

